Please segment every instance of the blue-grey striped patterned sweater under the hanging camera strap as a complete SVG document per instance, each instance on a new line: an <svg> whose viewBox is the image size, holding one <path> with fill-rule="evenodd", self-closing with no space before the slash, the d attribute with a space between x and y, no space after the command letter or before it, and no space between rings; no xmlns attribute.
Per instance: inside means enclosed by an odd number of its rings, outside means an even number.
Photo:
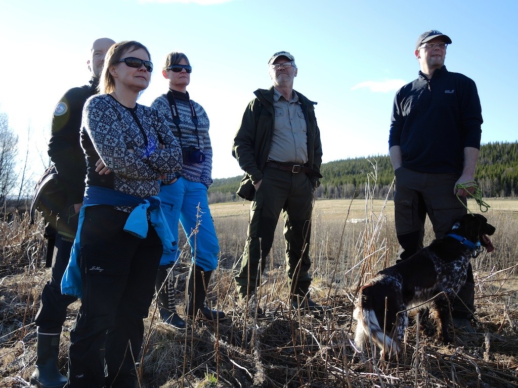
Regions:
<svg viewBox="0 0 518 388"><path fill-rule="evenodd" d="M180 116L180 135L176 124L172 121L171 108L167 95L163 94L156 98L152 103L151 107L162 113L169 127L175 136L179 139L183 148L191 145L196 146L202 150L205 154L205 161L200 164L196 163L183 163L182 170L179 175L191 182L201 182L205 186L209 187L212 180L212 146L210 145L209 138L209 117L205 112L205 109L199 103L189 100L189 93L180 93L172 91L173 96L176 100L176 106L178 107L178 114ZM192 102L196 117L198 119L198 125L196 126L193 122L193 115L191 112L191 106L189 101ZM173 108L174 110L175 108ZM198 134L196 135L196 128ZM198 145L199 141L199 145Z"/></svg>

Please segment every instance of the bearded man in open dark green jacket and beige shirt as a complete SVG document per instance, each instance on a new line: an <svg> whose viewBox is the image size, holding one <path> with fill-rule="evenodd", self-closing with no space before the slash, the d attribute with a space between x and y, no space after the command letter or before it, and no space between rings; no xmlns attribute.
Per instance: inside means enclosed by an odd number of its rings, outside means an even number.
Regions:
<svg viewBox="0 0 518 388"><path fill-rule="evenodd" d="M245 300L255 293L282 211L291 302L295 308L320 311L309 298L308 254L313 191L322 177L316 102L293 90L298 71L293 55L277 52L268 65L274 85L254 92L233 144L233 155L246 173L238 194L252 201L236 288Z"/></svg>

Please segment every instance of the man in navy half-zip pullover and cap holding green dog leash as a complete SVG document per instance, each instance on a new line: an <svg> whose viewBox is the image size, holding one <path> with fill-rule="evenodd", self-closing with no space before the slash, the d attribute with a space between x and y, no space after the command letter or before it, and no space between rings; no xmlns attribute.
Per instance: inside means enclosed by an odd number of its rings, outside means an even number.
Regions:
<svg viewBox="0 0 518 388"><path fill-rule="evenodd" d="M389 152L396 175L394 195L399 259L423 247L426 215L442 237L466 214L480 149L482 113L475 83L444 66L452 40L437 30L421 34L415 56L419 78L396 93ZM461 199L457 199L457 196ZM474 280L471 264L465 286L453 302L457 328L474 332Z"/></svg>

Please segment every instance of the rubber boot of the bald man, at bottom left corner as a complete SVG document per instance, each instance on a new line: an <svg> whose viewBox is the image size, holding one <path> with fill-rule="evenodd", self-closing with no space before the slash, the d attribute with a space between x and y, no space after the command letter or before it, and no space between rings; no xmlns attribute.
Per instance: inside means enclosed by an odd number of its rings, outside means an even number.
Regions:
<svg viewBox="0 0 518 388"><path fill-rule="evenodd" d="M67 382L57 369L61 334L38 333L36 369L31 384L39 388L63 388Z"/></svg>

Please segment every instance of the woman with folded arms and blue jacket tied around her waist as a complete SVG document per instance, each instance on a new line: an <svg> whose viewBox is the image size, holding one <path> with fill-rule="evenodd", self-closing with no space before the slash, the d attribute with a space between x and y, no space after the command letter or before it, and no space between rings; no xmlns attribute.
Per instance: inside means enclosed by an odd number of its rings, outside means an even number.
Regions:
<svg viewBox="0 0 518 388"><path fill-rule="evenodd" d="M87 185L73 248L82 301L70 332L68 387L134 386L156 270L172 247L155 196L160 180L181 169L181 149L164 117L137 104L152 69L141 43L113 44L101 94L83 109Z"/></svg>

